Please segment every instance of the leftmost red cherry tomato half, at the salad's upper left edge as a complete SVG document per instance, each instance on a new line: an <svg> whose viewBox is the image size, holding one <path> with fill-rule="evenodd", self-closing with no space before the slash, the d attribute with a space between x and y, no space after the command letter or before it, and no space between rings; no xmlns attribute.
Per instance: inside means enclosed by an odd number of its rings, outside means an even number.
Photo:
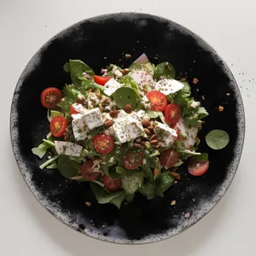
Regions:
<svg viewBox="0 0 256 256"><path fill-rule="evenodd" d="M61 102L61 90L49 87L41 93L41 103L44 108L55 108L59 102Z"/></svg>

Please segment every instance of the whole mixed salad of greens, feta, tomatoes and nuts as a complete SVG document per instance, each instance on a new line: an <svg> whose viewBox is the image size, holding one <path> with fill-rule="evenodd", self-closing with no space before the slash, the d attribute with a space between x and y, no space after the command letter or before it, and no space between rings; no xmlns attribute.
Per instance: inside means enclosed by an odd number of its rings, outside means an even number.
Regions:
<svg viewBox="0 0 256 256"><path fill-rule="evenodd" d="M72 84L41 95L49 134L32 148L39 158L48 155L41 169L90 183L98 203L116 207L136 193L148 200L164 196L187 159L191 175L207 172L208 155L196 149L208 113L186 79L176 79L171 63L155 66L143 54L128 68L110 64L102 75L79 60L64 70Z"/></svg>

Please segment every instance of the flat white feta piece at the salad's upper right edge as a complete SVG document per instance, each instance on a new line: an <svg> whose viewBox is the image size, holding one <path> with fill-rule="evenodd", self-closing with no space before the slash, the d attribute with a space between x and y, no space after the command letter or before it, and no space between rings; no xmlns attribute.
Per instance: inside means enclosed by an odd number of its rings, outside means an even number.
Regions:
<svg viewBox="0 0 256 256"><path fill-rule="evenodd" d="M155 90L159 90L165 95L175 93L178 90L182 90L184 84L175 79L162 79L155 84Z"/></svg>

